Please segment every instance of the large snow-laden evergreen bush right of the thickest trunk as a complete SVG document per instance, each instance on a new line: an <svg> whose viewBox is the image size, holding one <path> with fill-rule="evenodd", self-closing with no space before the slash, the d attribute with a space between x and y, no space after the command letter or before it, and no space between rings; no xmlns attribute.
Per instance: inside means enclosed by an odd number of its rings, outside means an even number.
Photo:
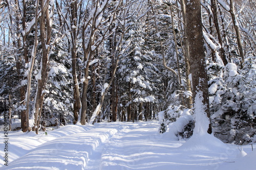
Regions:
<svg viewBox="0 0 256 170"><path fill-rule="evenodd" d="M216 86L216 90L209 90L215 92L210 100L212 126L224 142L248 143L256 134L255 63L255 57L248 57L241 70L228 63L223 79L210 84L210 89Z"/></svg>

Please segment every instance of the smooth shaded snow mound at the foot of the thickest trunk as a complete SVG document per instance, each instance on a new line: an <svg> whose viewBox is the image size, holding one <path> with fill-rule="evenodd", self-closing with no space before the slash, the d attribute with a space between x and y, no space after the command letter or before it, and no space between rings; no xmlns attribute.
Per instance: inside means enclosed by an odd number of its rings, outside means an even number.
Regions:
<svg viewBox="0 0 256 170"><path fill-rule="evenodd" d="M205 133L204 135L194 134L179 149L183 151L225 152L229 147L214 135Z"/></svg>

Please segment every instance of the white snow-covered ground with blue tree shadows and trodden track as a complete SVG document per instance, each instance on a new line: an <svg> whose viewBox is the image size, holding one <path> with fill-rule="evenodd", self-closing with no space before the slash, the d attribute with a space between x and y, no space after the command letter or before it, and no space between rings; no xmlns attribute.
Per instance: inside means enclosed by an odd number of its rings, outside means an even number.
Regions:
<svg viewBox="0 0 256 170"><path fill-rule="evenodd" d="M212 135L188 141L158 134L156 121L69 125L40 132L8 133L8 166L0 169L255 169L256 149L224 144ZM4 139L4 132L2 139ZM5 143L1 142L3 159ZM243 149L243 150L242 150ZM241 152L242 151L242 152ZM247 153L247 155L246 155Z"/></svg>

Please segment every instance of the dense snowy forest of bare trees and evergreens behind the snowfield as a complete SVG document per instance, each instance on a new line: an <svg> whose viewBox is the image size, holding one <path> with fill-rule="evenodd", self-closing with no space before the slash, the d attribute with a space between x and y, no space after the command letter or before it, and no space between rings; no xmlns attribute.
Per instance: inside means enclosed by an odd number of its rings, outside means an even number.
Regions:
<svg viewBox="0 0 256 170"><path fill-rule="evenodd" d="M255 142L256 2L195 2L1 0L1 127L158 119L182 139L203 109L208 133Z"/></svg>

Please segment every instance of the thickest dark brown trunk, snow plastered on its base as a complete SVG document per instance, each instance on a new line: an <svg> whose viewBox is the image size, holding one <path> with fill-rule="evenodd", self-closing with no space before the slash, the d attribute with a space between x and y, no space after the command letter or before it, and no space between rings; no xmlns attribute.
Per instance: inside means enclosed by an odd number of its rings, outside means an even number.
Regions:
<svg viewBox="0 0 256 170"><path fill-rule="evenodd" d="M189 45L190 68L193 84L193 100L194 109L195 97L202 92L202 102L204 105L204 112L208 119L210 119L209 112L209 94L208 94L208 80L204 53L204 38L203 25L201 17L201 3L200 0L189 1L186 0L186 32ZM195 113L198 114L198 113ZM211 125L209 124L208 131L211 133Z"/></svg>

